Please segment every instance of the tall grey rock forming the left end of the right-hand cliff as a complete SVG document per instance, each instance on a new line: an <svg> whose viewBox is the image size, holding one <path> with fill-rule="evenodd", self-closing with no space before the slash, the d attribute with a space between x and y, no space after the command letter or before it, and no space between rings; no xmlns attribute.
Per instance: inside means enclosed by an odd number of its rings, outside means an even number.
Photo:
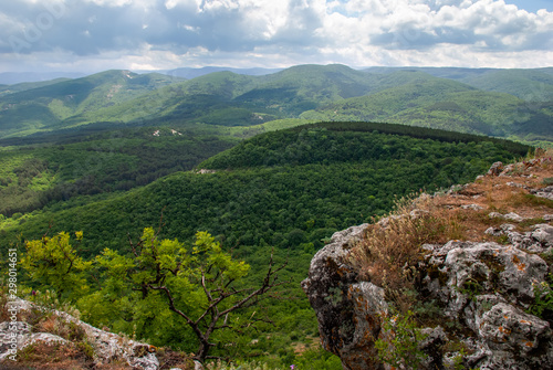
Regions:
<svg viewBox="0 0 553 370"><path fill-rule="evenodd" d="M344 369L383 369L374 340L380 331L380 314L387 310L384 290L357 282L348 263L349 250L366 226L334 233L311 261L309 277L302 282L317 317L322 345L341 358Z"/></svg>

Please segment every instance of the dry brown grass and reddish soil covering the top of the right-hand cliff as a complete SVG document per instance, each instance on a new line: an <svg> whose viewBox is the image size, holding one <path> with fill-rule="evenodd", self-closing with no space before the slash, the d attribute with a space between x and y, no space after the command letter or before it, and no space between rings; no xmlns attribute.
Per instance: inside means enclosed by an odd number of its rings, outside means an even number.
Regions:
<svg viewBox="0 0 553 370"><path fill-rule="evenodd" d="M521 161L510 176L486 176L455 193L422 194L397 202L388 218L367 228L364 240L352 251L352 262L361 272L361 278L383 287L396 308L406 313L416 299L414 266L424 257L425 243L501 242L484 231L513 222L490 219L490 212L515 212L529 219L518 225L520 232L543 223L544 214L553 214L553 201L530 193L531 189L546 187L553 178L551 157L553 150L550 149L533 163L529 159Z"/></svg>

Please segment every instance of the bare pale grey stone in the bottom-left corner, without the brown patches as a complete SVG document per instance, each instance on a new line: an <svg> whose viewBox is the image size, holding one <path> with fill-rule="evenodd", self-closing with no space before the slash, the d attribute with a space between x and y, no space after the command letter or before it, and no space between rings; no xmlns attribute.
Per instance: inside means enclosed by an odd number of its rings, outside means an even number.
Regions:
<svg viewBox="0 0 553 370"><path fill-rule="evenodd" d="M84 340L92 346L94 351L94 362L96 364L105 364L114 361L124 361L132 369L157 370L159 361L155 355L155 347L147 343L131 340L118 335L97 329L80 319L59 310L49 310L36 306L28 300L18 299L14 302L14 307L18 307L20 316L34 311L43 311L44 314L56 317L61 323L71 323L73 330L83 334ZM11 327L11 328L10 328ZM17 330L13 328L17 327ZM17 350L20 351L28 346L36 342L42 343L66 343L67 340L50 332L36 332L24 321L1 323L0 337L8 338L15 332ZM8 359L11 351L9 345L0 347L0 364L9 363Z"/></svg>

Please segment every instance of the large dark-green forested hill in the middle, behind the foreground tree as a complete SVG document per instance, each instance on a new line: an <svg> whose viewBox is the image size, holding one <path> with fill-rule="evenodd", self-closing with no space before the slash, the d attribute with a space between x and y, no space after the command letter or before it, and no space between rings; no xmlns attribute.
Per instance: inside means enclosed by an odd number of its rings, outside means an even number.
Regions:
<svg viewBox="0 0 553 370"><path fill-rule="evenodd" d="M222 171L175 173L84 207L51 203L23 215L18 225L7 223L2 234L13 231L35 237L50 223L52 232L82 229L88 235L88 253L97 253L103 246L123 246L127 232L157 224L165 208L165 232L170 236L188 239L207 230L223 235L229 245L285 247L296 245L288 233L300 230L300 241L320 245L332 231L386 212L394 195L469 181L491 162L528 151L478 136L455 140L458 134L450 134L448 142L393 135L393 129L364 123L323 124L263 134L198 167ZM422 134L414 129L413 135L417 131Z"/></svg>

